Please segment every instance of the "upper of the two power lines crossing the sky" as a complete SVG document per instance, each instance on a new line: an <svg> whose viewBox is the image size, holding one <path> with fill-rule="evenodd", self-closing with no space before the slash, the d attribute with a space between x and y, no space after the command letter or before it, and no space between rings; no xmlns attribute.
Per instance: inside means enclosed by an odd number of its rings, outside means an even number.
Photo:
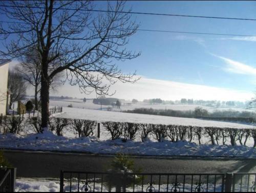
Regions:
<svg viewBox="0 0 256 193"><path fill-rule="evenodd" d="M0 5L0 7L16 7L16 8L32 8L32 9L44 9L43 7L31 7L31 6L8 6ZM72 10L78 11L78 9L72 8L53 8L59 10ZM233 19L233 20L249 20L256 21L251 18L239 18L239 17L215 17L215 16L202 16L202 15L180 15L180 14L164 14L164 13L146 13L146 12L128 12L128 11L109 11L109 10L95 10L95 9L79 9L80 11L92 11L92 12L109 12L109 13L128 13L128 14L139 14L139 15L157 15L157 16L176 16L176 17L196 17L196 18L208 18L208 19Z"/></svg>

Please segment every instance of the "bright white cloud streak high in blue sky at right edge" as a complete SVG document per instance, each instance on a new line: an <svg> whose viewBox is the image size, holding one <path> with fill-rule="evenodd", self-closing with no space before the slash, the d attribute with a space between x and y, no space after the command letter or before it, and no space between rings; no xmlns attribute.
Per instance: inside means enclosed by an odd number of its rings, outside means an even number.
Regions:
<svg viewBox="0 0 256 193"><path fill-rule="evenodd" d="M235 74L243 74L243 75L256 75L256 68L249 66L247 64L244 64L242 62L234 61L229 58L225 58L222 56L216 56L212 54L213 56L222 59L226 66L223 67L224 70L235 73Z"/></svg>

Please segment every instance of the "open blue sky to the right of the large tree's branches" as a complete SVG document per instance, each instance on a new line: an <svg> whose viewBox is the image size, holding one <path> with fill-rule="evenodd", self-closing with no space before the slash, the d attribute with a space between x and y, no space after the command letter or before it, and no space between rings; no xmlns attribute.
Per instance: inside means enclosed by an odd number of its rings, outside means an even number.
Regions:
<svg viewBox="0 0 256 193"><path fill-rule="evenodd" d="M96 4L104 10L105 2ZM128 1L126 6L127 10L132 7L134 12L256 18L256 2L251 1ZM152 15L133 15L133 19L140 23L140 29L256 35L256 21ZM185 83L187 88L202 85L231 90L232 99L236 95L234 91L243 93L234 100L249 100L256 88L256 37L138 31L130 38L127 48L141 52L141 56L117 64L125 73L137 70L137 74L147 80ZM173 89L172 86L165 88ZM127 96L117 87L114 89L117 97ZM131 89L136 90L136 84ZM129 98L140 98L134 92L129 92ZM194 96L189 92L175 94L177 98ZM211 97L199 93L195 98L212 99L217 94L223 93L210 93ZM164 93L157 96L176 99ZM223 100L229 96L227 94ZM143 94L143 98L146 95Z"/></svg>

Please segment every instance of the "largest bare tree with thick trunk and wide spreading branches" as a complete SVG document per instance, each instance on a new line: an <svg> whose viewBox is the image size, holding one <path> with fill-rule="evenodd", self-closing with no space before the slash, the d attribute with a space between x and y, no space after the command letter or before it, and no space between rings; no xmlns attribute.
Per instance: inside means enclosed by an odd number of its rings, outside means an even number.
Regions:
<svg viewBox="0 0 256 193"><path fill-rule="evenodd" d="M140 55L125 48L138 25L124 5L108 2L105 12L93 12L92 1L1 2L1 10L10 20L0 26L2 38L9 42L2 57L22 57L35 47L40 57L43 128L49 124L49 89L57 74L65 71L71 85L99 95L113 94L109 89L117 81L138 80L135 73L123 74L113 63Z"/></svg>

